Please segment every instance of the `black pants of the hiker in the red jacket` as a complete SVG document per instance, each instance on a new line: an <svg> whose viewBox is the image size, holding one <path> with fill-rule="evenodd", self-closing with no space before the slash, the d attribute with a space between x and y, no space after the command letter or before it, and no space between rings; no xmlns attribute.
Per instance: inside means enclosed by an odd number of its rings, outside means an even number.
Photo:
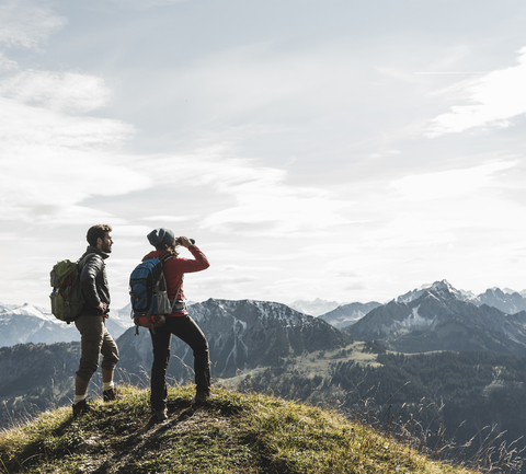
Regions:
<svg viewBox="0 0 526 474"><path fill-rule="evenodd" d="M194 373L197 392L210 393L210 359L208 342L199 326L190 316L167 317L162 326L150 331L153 345L151 367L151 407L156 411L167 406L167 369L170 361L172 334L186 343L194 351Z"/></svg>

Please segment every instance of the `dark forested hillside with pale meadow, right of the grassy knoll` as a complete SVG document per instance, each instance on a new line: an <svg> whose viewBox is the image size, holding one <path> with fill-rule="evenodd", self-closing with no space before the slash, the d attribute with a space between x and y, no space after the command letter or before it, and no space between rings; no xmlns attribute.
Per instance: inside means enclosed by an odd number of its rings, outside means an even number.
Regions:
<svg viewBox="0 0 526 474"><path fill-rule="evenodd" d="M224 379L237 390L272 391L313 405L336 404L350 417L362 407L396 423L413 420L455 438L468 458L490 439L523 451L526 441L524 356L498 352L390 352L378 343L282 359ZM493 442L492 441L492 442ZM504 444L502 444L504 447ZM518 473L519 471L513 471Z"/></svg>

